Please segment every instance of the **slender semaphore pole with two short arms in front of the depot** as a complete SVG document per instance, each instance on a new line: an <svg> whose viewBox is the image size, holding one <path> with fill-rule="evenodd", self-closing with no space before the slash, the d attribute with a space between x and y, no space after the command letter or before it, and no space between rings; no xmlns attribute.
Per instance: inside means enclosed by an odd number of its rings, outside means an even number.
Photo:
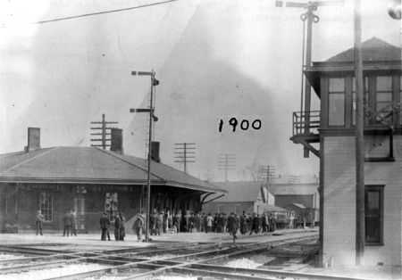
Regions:
<svg viewBox="0 0 402 280"><path fill-rule="evenodd" d="M147 213L146 213L146 242L149 242L149 216L151 214L151 152L152 152L152 123L153 120L157 121L158 118L154 115L154 91L155 86L159 85L159 81L155 78L155 71L131 71L133 76L149 76L151 78L151 98L149 100L149 108L147 109L130 109L130 112L147 112L149 113L149 126L148 126L148 157L147 157Z"/></svg>

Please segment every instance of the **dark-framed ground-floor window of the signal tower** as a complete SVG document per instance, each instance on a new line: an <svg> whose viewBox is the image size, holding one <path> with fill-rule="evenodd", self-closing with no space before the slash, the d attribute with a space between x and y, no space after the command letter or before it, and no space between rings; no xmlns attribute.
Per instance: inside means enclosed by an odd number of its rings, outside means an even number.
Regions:
<svg viewBox="0 0 402 280"><path fill-rule="evenodd" d="M382 245L383 235L383 185L365 185L364 190L364 221L365 243L367 245Z"/></svg>

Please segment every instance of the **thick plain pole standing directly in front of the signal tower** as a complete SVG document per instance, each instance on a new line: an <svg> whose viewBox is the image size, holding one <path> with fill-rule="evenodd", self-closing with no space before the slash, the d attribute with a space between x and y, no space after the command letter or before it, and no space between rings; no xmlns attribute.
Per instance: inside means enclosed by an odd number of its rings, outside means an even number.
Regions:
<svg viewBox="0 0 402 280"><path fill-rule="evenodd" d="M361 3L355 0L355 78L356 78L356 265L364 256L364 95Z"/></svg>

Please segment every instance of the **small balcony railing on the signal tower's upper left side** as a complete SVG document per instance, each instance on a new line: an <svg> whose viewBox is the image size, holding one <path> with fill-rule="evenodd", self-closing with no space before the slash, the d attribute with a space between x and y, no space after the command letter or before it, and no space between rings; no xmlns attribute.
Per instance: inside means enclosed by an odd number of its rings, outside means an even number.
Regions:
<svg viewBox="0 0 402 280"><path fill-rule="evenodd" d="M294 111L293 136L318 134L320 111Z"/></svg>

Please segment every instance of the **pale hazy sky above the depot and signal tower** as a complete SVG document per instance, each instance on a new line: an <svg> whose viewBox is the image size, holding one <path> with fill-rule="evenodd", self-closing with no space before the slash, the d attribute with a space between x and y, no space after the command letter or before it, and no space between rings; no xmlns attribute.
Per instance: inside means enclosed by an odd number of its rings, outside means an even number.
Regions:
<svg viewBox="0 0 402 280"><path fill-rule="evenodd" d="M29 22L118 9L156 0L0 0L0 152L21 151L27 127L41 128L42 146L89 144L89 122L105 113L124 130L125 152L144 156L148 80L157 72L155 140L172 164L173 144L197 143L189 172L222 179L219 153L236 153L230 179L247 166L318 174L289 141L299 109L302 23L299 9L274 0L181 0L172 4L46 24ZM388 1L364 0L364 39L400 45L400 21ZM353 1L320 7L313 60L353 45ZM317 104L317 101L314 101ZM217 132L218 119L263 120L259 131ZM180 167L179 165L174 165Z"/></svg>

